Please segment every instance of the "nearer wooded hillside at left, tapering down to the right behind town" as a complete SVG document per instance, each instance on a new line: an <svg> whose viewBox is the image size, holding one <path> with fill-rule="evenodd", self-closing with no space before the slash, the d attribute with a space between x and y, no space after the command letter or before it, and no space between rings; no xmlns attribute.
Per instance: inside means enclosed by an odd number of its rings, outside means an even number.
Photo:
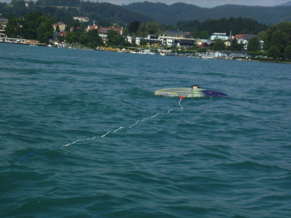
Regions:
<svg viewBox="0 0 291 218"><path fill-rule="evenodd" d="M10 4L0 2L1 17L23 17L27 13L38 12L57 21L69 23L73 16L87 16L90 21L109 26L111 23L127 24L134 20L141 22L155 21L153 18L132 11L119 5L107 2L93 2L83 0L38 0L29 1L26 6L24 0L12 0Z"/></svg>

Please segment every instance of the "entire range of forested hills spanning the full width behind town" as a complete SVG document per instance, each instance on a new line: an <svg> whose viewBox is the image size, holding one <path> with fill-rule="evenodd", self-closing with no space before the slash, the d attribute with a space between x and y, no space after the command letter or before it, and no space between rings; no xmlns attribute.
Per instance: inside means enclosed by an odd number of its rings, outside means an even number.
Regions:
<svg viewBox="0 0 291 218"><path fill-rule="evenodd" d="M243 6L223 5L214 8L198 7L194 4L174 3L167 5L160 2L136 2L128 5L115 5L106 2L84 0L12 0L10 4L0 3L0 13L8 17L22 17L26 13L40 12L58 21L70 22L72 16L88 16L91 21L97 20L101 25L110 23L129 24L135 20L140 22L157 21L167 25L178 22L204 22L208 19L221 18L251 18L262 24L275 24L281 21L291 21L291 6ZM52 6L53 5L53 6Z"/></svg>

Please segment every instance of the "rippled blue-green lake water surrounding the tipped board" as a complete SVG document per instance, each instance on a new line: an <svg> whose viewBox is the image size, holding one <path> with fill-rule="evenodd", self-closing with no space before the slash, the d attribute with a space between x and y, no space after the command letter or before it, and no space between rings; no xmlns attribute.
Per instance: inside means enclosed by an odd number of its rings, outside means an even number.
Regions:
<svg viewBox="0 0 291 218"><path fill-rule="evenodd" d="M154 96L194 84L229 98ZM290 218L290 205L291 65L0 44L1 218Z"/></svg>

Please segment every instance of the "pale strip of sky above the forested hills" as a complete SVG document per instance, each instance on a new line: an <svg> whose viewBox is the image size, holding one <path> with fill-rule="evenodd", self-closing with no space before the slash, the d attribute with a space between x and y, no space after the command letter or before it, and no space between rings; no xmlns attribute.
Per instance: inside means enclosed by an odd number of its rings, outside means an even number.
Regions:
<svg viewBox="0 0 291 218"><path fill-rule="evenodd" d="M91 0L91 1L102 1L113 4L129 4L137 1L144 0ZM274 6L276 4L283 4L290 0L147 0L151 2L162 2L166 4L173 4L176 2L184 2L188 4L195 4L200 7L215 7L224 4L240 4L240 5L259 5L259 6Z"/></svg>

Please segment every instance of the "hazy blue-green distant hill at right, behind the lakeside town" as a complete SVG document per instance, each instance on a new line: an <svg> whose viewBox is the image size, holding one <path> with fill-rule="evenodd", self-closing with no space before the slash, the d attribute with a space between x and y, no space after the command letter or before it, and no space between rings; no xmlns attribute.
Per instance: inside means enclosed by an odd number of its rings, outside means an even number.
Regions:
<svg viewBox="0 0 291 218"><path fill-rule="evenodd" d="M165 24L176 24L178 21L220 19L222 17L251 18L259 23L275 24L280 21L291 21L291 6L263 7L226 4L213 8L198 7L194 4L135 2L123 7L153 17Z"/></svg>

